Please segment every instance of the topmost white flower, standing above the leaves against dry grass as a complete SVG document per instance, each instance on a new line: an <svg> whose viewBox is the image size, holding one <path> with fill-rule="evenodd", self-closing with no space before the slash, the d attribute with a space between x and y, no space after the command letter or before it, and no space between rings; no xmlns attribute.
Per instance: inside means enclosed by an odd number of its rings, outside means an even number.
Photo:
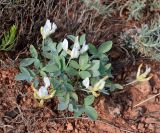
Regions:
<svg viewBox="0 0 160 133"><path fill-rule="evenodd" d="M51 23L50 20L47 19L44 27L41 27L43 39L46 39L50 34L54 33L56 29L57 25L55 23Z"/></svg>

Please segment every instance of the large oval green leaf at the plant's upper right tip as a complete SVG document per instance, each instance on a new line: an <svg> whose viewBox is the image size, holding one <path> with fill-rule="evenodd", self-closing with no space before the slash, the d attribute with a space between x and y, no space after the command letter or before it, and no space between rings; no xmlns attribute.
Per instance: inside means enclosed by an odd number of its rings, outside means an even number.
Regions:
<svg viewBox="0 0 160 133"><path fill-rule="evenodd" d="M107 41L102 43L99 48L98 48L98 52L99 53L106 53L108 52L110 49L112 48L112 41Z"/></svg>

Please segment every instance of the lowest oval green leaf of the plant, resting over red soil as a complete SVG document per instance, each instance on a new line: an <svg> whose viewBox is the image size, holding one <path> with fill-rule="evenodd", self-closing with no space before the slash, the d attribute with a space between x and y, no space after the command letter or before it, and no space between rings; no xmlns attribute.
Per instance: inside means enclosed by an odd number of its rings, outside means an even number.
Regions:
<svg viewBox="0 0 160 133"><path fill-rule="evenodd" d="M96 120L98 118L97 111L91 106L86 106L85 107L85 113L92 120Z"/></svg>

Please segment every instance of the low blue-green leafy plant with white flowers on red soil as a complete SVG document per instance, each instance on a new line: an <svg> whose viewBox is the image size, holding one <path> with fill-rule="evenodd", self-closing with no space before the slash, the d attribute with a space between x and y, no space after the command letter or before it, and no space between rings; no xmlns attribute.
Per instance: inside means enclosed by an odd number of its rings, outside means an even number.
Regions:
<svg viewBox="0 0 160 133"><path fill-rule="evenodd" d="M106 53L112 48L112 41L96 48L86 43L83 34L80 37L68 35L69 41L64 39L56 43L49 37L56 29L50 20L41 27L43 42L38 46L40 51L30 46L31 57L21 60L16 80L26 80L31 84L40 106L45 100L56 97L58 110L68 109L74 112L75 117L86 113L95 120L98 117L92 107L95 97L122 88L110 80L111 64Z"/></svg>

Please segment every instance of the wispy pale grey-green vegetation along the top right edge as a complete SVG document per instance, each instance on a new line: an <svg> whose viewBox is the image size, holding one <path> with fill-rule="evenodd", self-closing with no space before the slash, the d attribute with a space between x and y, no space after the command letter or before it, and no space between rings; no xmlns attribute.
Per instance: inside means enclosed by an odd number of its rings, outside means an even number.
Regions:
<svg viewBox="0 0 160 133"><path fill-rule="evenodd" d="M83 0L89 9L95 9L99 14L111 16L115 11L120 15L124 9L127 11L128 20L140 20L145 14L151 14L150 11L157 11L160 8L160 2L157 0Z"/></svg>

